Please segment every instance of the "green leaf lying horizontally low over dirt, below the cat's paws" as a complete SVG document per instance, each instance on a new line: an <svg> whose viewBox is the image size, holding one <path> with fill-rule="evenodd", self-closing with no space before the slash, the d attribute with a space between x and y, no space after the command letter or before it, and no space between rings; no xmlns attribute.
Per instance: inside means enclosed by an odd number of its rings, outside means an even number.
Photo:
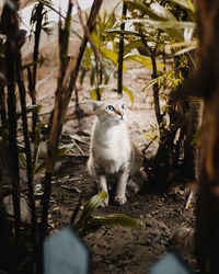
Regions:
<svg viewBox="0 0 219 274"><path fill-rule="evenodd" d="M112 214L107 216L94 216L89 219L88 226L122 226L129 228L143 228L145 224L138 219L131 218L123 214Z"/></svg>

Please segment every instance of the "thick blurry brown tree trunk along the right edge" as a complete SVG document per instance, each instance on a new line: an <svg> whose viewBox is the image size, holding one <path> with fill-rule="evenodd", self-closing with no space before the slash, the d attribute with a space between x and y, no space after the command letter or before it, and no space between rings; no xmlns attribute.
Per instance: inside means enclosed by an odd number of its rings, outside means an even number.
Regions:
<svg viewBox="0 0 219 274"><path fill-rule="evenodd" d="M201 273L219 273L219 1L199 0L200 64L194 78L204 96L196 252Z"/></svg>

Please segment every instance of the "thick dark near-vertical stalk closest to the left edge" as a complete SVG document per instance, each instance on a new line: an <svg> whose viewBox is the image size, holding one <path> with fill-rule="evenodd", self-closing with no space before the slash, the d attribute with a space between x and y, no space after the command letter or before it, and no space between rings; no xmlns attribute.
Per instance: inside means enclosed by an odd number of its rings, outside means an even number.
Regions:
<svg viewBox="0 0 219 274"><path fill-rule="evenodd" d="M12 1L16 7L16 1ZM9 147L13 162L12 184L13 184L13 207L14 207L14 228L16 237L20 237L21 230L21 208L20 208L20 178L19 178L19 151L16 146L16 101L15 101L15 67L18 57L16 35L19 30L16 10L4 5L8 14L7 20L7 43L5 43L5 61L7 61L7 88L8 88L8 116L9 116Z"/></svg>

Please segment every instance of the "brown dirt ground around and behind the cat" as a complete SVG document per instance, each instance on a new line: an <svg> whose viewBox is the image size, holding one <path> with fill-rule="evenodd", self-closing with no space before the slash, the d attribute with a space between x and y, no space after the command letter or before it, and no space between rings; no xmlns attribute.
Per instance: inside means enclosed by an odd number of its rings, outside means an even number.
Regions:
<svg viewBox="0 0 219 274"><path fill-rule="evenodd" d="M47 56L46 50L44 54ZM132 139L143 149L149 141L145 134L150 135L151 125L155 123L151 92L148 96L141 92L146 81L150 79L150 70L136 67L134 64L128 64L128 71L124 73L124 84L132 90L135 98L132 105L127 99L128 126ZM45 64L39 68L38 80L45 79L49 73L50 77L38 87L38 103L43 105L42 121L48 119L56 90L56 64L48 55ZM116 85L116 75L114 75L111 79L112 87ZM78 83L77 87L80 101L90 98L89 77L83 85ZM105 91L105 94L108 92ZM68 114L73 112L74 96L70 105ZM80 125L77 119L70 119L64 126L60 145L74 144L74 146L67 157L57 162L49 209L50 233L69 225L81 192L83 192L83 205L96 194L95 183L87 170L93 122L94 116L91 116L81 119ZM153 155L155 148L157 144L150 146L146 156ZM42 157L44 157L44 151L43 145ZM39 184L42 178L37 180ZM102 227L87 235L84 242L91 253L91 273L149 273L150 266L172 248L170 239L173 231L182 226L194 226L194 206L185 209L187 195L188 193L183 189L165 195L140 192L123 206L111 203L106 208L97 208L95 215L125 214L140 219L146 227L141 229ZM39 204L38 198L37 205Z"/></svg>

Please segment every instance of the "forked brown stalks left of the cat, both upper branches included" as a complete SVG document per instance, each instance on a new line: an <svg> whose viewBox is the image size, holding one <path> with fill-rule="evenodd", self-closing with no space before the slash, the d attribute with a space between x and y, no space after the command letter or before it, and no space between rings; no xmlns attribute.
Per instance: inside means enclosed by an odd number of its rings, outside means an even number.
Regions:
<svg viewBox="0 0 219 274"><path fill-rule="evenodd" d="M93 31L95 20L101 8L102 0L93 2L90 16L88 20L88 28ZM54 172L56 155L58 151L59 138L61 134L62 124L65 121L68 103L71 93L74 89L76 80L78 77L79 68L81 65L82 56L88 43L88 35L84 34L81 46L76 57L72 56L67 62L68 56L68 39L70 33L72 3L69 1L68 15L65 22L64 30L61 22L59 22L59 76L57 82L55 107L53 112L53 122L48 136L47 158L46 158L46 176L44 182L44 198L42 208L42 224L41 224L41 240L43 241L47 235L48 226L48 205L51 192L51 176ZM64 41L66 43L64 43Z"/></svg>

